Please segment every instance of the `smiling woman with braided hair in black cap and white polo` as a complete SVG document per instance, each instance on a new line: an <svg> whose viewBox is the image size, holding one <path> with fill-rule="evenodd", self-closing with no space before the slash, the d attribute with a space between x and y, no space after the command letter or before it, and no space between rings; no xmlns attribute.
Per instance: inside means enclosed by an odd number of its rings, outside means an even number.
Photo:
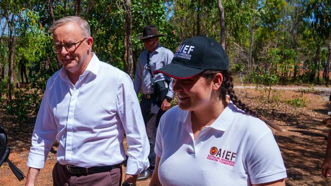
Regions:
<svg viewBox="0 0 331 186"><path fill-rule="evenodd" d="M172 63L154 72L175 78L179 103L161 117L150 185L285 185L267 121L236 97L228 69L224 49L198 36L182 42Z"/></svg>

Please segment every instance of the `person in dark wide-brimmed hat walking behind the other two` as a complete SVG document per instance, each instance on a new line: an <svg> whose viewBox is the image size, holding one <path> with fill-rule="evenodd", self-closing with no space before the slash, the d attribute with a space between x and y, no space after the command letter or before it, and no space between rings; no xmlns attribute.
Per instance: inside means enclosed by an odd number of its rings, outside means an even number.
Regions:
<svg viewBox="0 0 331 186"><path fill-rule="evenodd" d="M133 85L137 95L140 90L143 91L140 106L150 143L148 157L150 167L141 172L137 180L148 179L154 171L154 145L157 125L161 115L170 108L174 95L170 86L171 78L163 74L152 74L153 71L169 65L174 56L172 51L160 46L158 39L162 36L164 35L158 33L157 26L148 25L143 28L143 33L136 37L136 39L143 41L146 50L139 56Z"/></svg>

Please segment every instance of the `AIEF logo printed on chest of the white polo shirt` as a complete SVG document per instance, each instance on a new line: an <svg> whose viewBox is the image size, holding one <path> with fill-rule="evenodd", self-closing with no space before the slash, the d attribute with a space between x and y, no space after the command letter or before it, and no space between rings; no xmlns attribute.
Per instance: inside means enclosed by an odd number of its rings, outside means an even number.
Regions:
<svg viewBox="0 0 331 186"><path fill-rule="evenodd" d="M207 160L233 167L236 160L236 155L236 152L222 148L217 149L217 147L213 146L209 150Z"/></svg>

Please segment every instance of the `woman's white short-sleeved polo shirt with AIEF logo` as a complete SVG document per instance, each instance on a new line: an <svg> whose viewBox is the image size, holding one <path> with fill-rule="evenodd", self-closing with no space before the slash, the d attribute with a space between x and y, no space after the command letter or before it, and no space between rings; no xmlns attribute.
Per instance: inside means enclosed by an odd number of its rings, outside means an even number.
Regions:
<svg viewBox="0 0 331 186"><path fill-rule="evenodd" d="M287 177L271 130L232 102L196 140L190 112L173 107L161 117L155 153L162 185L251 185Z"/></svg>

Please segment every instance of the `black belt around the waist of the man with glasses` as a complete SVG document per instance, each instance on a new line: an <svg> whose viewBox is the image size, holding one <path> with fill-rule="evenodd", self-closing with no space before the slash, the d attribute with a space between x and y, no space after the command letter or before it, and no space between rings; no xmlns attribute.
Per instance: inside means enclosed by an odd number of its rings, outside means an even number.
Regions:
<svg viewBox="0 0 331 186"><path fill-rule="evenodd" d="M98 166L98 167L90 167L90 168L76 167L74 165L67 164L67 165L62 165L62 167L65 168L69 173L74 175L89 175L99 172L107 172L115 168L121 168L122 164L106 165L106 166Z"/></svg>

